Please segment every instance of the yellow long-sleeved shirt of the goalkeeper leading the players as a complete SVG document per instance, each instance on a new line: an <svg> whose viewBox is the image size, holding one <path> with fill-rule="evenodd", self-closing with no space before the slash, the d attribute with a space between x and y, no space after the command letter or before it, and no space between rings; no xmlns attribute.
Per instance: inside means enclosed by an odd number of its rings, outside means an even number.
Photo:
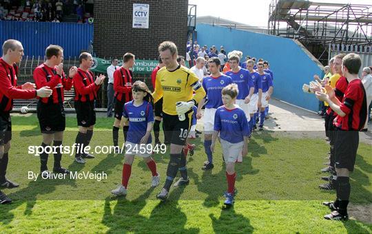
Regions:
<svg viewBox="0 0 372 234"><path fill-rule="evenodd" d="M178 65L174 71L167 70L167 67L158 70L155 91L152 96L154 103L163 97L165 114L177 115L177 102L194 100L199 103L205 97L205 90L194 72L187 67Z"/></svg>

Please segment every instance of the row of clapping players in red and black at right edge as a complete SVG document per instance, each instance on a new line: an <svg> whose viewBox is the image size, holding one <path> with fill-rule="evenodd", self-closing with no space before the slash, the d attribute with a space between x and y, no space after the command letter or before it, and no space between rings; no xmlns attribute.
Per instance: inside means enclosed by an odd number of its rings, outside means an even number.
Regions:
<svg viewBox="0 0 372 234"><path fill-rule="evenodd" d="M364 84L358 77L362 65L357 54L338 54L331 58L329 66L333 75L329 83L322 87L320 83L311 87L311 92L327 102L325 131L329 137L329 167L322 169L331 176L322 177L329 184L320 189L335 189L333 202L323 202L331 213L324 215L327 220L348 220L347 206L351 193L349 173L355 166L359 144L359 131L367 123L367 100Z"/></svg>

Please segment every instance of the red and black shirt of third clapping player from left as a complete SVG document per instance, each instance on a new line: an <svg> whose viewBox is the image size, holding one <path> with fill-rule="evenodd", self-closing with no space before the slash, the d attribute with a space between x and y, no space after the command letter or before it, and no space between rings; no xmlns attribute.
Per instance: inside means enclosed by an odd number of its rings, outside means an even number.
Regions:
<svg viewBox="0 0 372 234"><path fill-rule="evenodd" d="M75 88L75 98L74 100L79 100L81 102L86 102L87 100L94 100L97 96L97 91L101 85L96 85L94 83L94 74L87 70L81 70L78 68L78 72L74 75L74 88Z"/></svg>

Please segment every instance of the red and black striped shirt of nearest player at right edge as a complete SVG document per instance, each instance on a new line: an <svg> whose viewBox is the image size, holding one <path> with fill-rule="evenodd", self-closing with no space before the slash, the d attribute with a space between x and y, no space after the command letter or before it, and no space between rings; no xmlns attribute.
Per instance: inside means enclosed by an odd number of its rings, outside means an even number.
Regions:
<svg viewBox="0 0 372 234"><path fill-rule="evenodd" d="M336 116L333 122L335 127L346 131L363 129L367 117L366 92L360 79L350 81L344 98L342 98L340 109L346 115L344 117Z"/></svg>

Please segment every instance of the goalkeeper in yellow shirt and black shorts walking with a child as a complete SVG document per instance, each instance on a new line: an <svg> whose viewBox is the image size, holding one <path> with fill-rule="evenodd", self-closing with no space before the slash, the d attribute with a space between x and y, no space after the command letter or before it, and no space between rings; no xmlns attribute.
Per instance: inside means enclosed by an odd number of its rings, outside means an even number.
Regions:
<svg viewBox="0 0 372 234"><path fill-rule="evenodd" d="M165 201L178 170L181 175L178 186L189 184L183 146L191 127L192 107L205 97L205 91L198 76L177 63L178 51L172 41L161 43L158 52L165 66L156 74L156 88L152 96L154 103L163 97L164 131L171 139L167 179L161 193L156 195L156 198Z"/></svg>

